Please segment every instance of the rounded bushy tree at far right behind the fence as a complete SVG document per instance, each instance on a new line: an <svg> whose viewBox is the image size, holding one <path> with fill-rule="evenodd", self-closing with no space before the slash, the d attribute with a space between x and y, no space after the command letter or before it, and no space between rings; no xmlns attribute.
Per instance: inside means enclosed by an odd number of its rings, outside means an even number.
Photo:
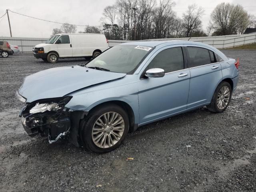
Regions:
<svg viewBox="0 0 256 192"><path fill-rule="evenodd" d="M244 8L230 3L220 3L214 8L211 22L217 35L242 33L250 23Z"/></svg>

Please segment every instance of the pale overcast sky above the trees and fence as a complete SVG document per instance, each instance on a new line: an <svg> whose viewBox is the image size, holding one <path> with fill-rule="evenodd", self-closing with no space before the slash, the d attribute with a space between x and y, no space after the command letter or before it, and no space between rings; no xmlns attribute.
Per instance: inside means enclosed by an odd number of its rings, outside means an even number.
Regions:
<svg viewBox="0 0 256 192"><path fill-rule="evenodd" d="M77 25L100 25L103 9L114 4L116 0L8 0L1 3L0 17L10 9L14 12L26 14L55 22L68 22ZM157 0L159 2L160 0ZM205 10L202 17L203 29L206 30L210 20L210 13L223 0L174 0L174 11L182 16L189 4L196 3ZM248 13L256 15L256 0L225 0L241 4ZM9 12L13 37L49 38L53 28L60 28L61 24L35 20ZM78 27L83 30L83 27ZM0 19L0 36L10 36L7 15Z"/></svg>

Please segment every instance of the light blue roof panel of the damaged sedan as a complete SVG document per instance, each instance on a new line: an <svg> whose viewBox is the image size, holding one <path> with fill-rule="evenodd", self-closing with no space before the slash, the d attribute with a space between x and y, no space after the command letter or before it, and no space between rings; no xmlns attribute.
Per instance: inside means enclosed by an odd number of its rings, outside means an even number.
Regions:
<svg viewBox="0 0 256 192"><path fill-rule="evenodd" d="M193 44L193 45L200 45L211 47L207 44L199 43L199 42L192 42L192 41L181 41L181 40L150 40L150 41L133 41L123 43L123 45L141 45L141 46L149 46L149 47L156 47L156 46L168 46L168 45L178 45L178 44Z"/></svg>

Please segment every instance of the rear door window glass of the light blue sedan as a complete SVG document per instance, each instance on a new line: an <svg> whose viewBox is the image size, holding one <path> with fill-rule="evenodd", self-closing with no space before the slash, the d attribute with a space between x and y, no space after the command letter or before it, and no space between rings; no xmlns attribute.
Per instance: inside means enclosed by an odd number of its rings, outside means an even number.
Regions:
<svg viewBox="0 0 256 192"><path fill-rule="evenodd" d="M188 67L196 67L211 63L208 49L200 47L187 47L188 50Z"/></svg>

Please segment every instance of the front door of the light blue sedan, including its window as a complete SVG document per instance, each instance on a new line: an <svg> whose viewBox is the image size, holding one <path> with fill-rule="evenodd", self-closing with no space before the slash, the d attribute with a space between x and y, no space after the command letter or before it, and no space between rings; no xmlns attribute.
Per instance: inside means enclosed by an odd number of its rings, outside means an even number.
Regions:
<svg viewBox="0 0 256 192"><path fill-rule="evenodd" d="M138 81L140 125L186 110L187 107L190 71L184 65L182 48L162 48L152 57L144 72L162 68L165 75Z"/></svg>

